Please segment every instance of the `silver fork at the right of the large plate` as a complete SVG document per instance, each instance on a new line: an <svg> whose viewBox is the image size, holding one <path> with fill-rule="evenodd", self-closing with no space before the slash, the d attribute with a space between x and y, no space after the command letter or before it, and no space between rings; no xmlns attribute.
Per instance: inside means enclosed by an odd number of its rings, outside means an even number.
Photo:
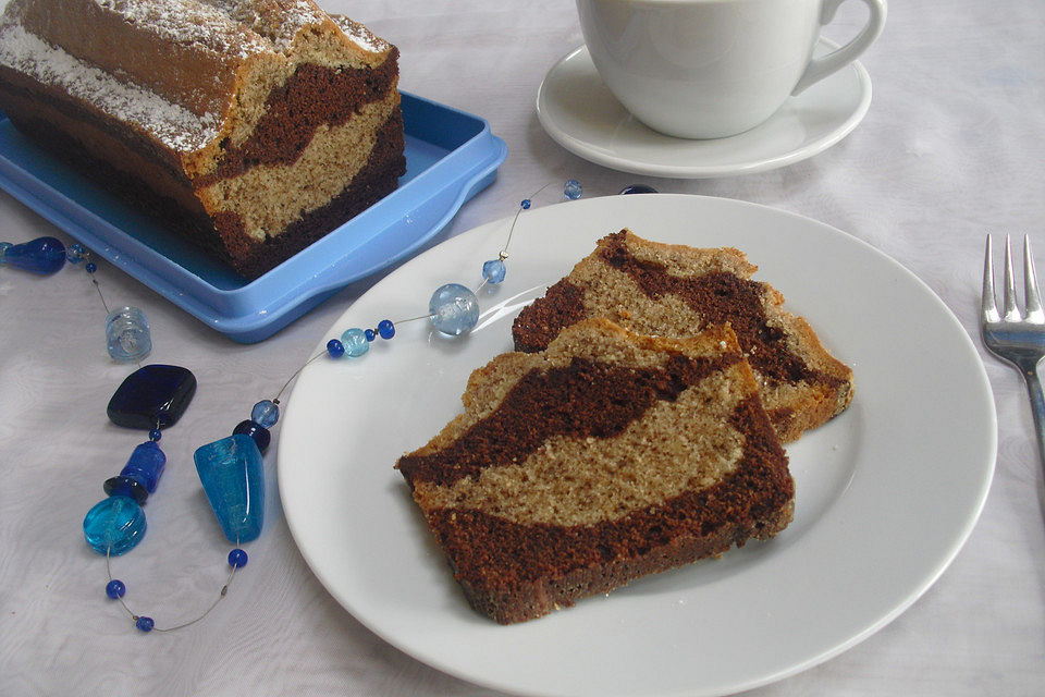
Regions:
<svg viewBox="0 0 1045 697"><path fill-rule="evenodd" d="M994 297L994 265L991 260L991 235L987 235L986 258L983 262L983 303L980 333L991 353L1016 366L1031 398L1031 413L1037 431L1038 455L1045 466L1045 395L1037 377L1037 364L1045 356L1045 311L1037 291L1037 274L1031 256L1030 237L1023 237L1023 311L1016 302L1016 281L1012 278L1012 254L1009 236L1005 236L1004 308L998 313Z"/></svg>

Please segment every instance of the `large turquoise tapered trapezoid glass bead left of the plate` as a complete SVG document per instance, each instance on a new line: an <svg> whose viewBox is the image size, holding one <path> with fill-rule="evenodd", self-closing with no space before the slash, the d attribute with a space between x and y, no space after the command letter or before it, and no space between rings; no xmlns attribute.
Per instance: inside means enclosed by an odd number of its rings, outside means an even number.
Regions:
<svg viewBox="0 0 1045 697"><path fill-rule="evenodd" d="M265 473L254 439L234 433L198 448L193 460L229 541L238 545L257 538L265 515Z"/></svg>

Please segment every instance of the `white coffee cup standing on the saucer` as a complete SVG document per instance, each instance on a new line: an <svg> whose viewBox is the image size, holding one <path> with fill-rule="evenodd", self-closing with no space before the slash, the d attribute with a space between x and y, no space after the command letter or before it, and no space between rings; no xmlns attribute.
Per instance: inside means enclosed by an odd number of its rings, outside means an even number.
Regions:
<svg viewBox="0 0 1045 697"><path fill-rule="evenodd" d="M857 59L882 33L886 0L849 44L812 58L845 0L577 0L591 60L638 120L681 138L722 138Z"/></svg>

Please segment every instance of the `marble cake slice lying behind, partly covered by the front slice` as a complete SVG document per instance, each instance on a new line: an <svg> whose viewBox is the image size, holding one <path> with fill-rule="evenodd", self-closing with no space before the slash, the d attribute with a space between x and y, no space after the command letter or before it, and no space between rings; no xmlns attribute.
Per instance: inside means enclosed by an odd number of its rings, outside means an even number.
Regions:
<svg viewBox="0 0 1045 697"><path fill-rule="evenodd" d="M757 270L737 249L661 244L622 230L522 309L512 328L515 347L540 351L586 317L666 337L728 322L773 427L783 442L795 441L845 411L852 370L804 319L784 309L779 292L751 279Z"/></svg>

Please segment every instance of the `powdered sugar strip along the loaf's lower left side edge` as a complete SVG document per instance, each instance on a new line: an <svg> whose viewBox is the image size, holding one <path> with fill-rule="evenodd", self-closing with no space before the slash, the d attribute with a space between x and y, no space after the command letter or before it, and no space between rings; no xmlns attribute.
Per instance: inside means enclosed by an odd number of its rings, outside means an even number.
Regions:
<svg viewBox="0 0 1045 697"><path fill-rule="evenodd" d="M19 25L0 28L0 64L137 124L175 151L197 150L218 134L217 114L197 117L148 89L124 84Z"/></svg>

